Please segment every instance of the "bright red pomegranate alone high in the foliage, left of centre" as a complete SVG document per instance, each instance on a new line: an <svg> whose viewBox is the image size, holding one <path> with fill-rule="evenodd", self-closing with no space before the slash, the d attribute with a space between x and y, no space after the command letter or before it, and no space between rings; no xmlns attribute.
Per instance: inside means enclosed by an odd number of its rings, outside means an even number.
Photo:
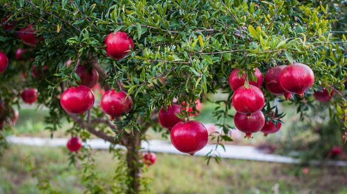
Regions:
<svg viewBox="0 0 347 194"><path fill-rule="evenodd" d="M129 45L134 49L134 41L125 32L110 33L105 39L106 52L110 57L122 59L129 52Z"/></svg>

